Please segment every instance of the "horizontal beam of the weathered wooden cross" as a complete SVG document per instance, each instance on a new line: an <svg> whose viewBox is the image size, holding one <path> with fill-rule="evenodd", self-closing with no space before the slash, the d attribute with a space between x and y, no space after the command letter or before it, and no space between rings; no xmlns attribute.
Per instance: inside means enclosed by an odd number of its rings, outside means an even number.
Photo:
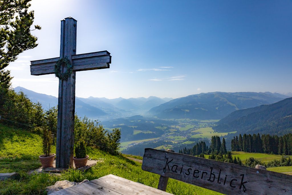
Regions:
<svg viewBox="0 0 292 195"><path fill-rule="evenodd" d="M30 61L30 74L44 75L55 73L54 68L58 59L60 57ZM73 71L107 69L111 59L112 57L108 51L72 55Z"/></svg>

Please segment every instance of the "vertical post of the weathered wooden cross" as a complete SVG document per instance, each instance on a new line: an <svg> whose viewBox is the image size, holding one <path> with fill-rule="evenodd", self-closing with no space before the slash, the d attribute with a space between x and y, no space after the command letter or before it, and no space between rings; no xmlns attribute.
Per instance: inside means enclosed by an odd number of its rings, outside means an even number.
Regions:
<svg viewBox="0 0 292 195"><path fill-rule="evenodd" d="M61 21L60 59L67 57L72 64L76 54L77 20L65 18ZM64 73L67 67L61 67ZM67 80L59 79L58 125L56 142L56 167L73 167L74 151L74 114L75 114L75 77L76 72Z"/></svg>

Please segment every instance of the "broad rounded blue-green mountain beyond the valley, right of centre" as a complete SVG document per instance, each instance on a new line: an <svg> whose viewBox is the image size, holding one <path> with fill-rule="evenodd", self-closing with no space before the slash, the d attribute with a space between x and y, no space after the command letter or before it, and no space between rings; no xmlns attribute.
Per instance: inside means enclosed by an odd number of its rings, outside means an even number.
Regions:
<svg viewBox="0 0 292 195"><path fill-rule="evenodd" d="M288 97L270 92L200 93L153 107L148 114L162 119L222 119L236 110L272 104Z"/></svg>

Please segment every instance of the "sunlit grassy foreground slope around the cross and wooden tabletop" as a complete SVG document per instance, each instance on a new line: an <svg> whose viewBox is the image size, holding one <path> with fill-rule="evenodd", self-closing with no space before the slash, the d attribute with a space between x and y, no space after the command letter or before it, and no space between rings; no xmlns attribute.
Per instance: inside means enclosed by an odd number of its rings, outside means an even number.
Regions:
<svg viewBox="0 0 292 195"><path fill-rule="evenodd" d="M40 136L0 124L0 172L20 173L20 177L16 180L0 181L0 194L44 194L44 189L58 180L79 182L83 179L97 179L108 174L155 188L159 181L159 175L143 171L141 163L129 160L124 155L112 156L93 148L88 148L90 158L104 160L104 162L98 163L85 173L69 170L60 177L46 173L29 175L30 170L41 166L38 160L41 154ZM166 191L173 194L219 194L173 179L168 181Z"/></svg>

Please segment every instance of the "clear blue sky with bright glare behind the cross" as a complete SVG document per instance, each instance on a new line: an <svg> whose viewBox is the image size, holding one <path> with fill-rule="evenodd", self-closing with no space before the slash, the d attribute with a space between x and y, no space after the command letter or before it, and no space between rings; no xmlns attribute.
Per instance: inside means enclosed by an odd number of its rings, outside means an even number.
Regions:
<svg viewBox="0 0 292 195"><path fill-rule="evenodd" d="M11 63L13 87L58 95L29 61L58 57L60 20L77 54L108 50L109 69L77 72L78 97L178 98L201 92L292 92L292 1L32 1L38 47Z"/></svg>

